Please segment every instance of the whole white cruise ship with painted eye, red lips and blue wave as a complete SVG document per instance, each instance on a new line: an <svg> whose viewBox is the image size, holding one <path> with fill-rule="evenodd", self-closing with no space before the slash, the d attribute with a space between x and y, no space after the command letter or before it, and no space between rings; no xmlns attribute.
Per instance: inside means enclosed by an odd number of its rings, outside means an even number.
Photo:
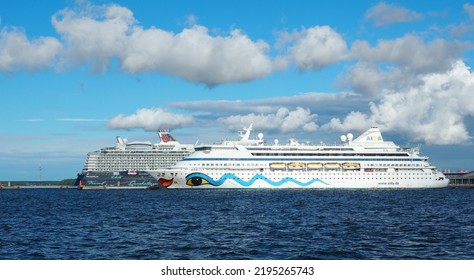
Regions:
<svg viewBox="0 0 474 280"><path fill-rule="evenodd" d="M442 188L449 180L420 155L385 141L378 127L335 145L267 145L263 134L196 147L170 168L150 174L168 188Z"/></svg>

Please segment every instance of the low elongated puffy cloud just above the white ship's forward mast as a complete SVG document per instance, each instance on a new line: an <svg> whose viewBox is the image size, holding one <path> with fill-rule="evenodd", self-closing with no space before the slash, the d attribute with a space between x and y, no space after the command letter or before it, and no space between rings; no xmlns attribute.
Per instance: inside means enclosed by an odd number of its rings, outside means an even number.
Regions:
<svg viewBox="0 0 474 280"><path fill-rule="evenodd" d="M254 123L256 129L289 133L300 129L306 132L316 131L318 129L316 118L317 115L311 114L309 109L298 107L291 111L281 107L271 114L232 115L219 118L218 122L232 129L239 129L249 123Z"/></svg>

